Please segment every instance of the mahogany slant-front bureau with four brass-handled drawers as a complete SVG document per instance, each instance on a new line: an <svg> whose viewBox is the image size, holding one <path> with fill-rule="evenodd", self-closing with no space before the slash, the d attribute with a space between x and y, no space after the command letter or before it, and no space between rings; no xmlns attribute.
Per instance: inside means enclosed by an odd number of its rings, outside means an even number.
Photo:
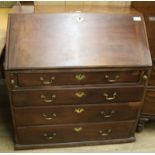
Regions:
<svg viewBox="0 0 155 155"><path fill-rule="evenodd" d="M134 141L151 65L140 14L11 14L15 148Z"/></svg>

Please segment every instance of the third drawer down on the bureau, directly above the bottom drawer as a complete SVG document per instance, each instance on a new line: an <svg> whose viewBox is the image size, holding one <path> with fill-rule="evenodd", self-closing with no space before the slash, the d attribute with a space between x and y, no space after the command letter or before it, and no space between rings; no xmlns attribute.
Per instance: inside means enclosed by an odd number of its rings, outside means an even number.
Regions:
<svg viewBox="0 0 155 155"><path fill-rule="evenodd" d="M136 120L140 103L15 108L17 126ZM22 116L22 117L21 117Z"/></svg>

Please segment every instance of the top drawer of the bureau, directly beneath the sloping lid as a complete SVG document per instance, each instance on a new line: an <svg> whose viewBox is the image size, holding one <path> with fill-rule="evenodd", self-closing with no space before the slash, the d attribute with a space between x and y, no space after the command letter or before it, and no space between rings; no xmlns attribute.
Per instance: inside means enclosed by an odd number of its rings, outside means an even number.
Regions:
<svg viewBox="0 0 155 155"><path fill-rule="evenodd" d="M20 87L81 84L137 83L142 71L54 72L18 74Z"/></svg>

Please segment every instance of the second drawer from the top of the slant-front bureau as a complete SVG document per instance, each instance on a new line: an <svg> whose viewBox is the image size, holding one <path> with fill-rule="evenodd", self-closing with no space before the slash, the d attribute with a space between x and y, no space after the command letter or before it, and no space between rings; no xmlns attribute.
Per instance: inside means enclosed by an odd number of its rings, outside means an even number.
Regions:
<svg viewBox="0 0 155 155"><path fill-rule="evenodd" d="M15 106L134 102L142 99L143 90L143 86L18 90L12 92L12 100Z"/></svg>

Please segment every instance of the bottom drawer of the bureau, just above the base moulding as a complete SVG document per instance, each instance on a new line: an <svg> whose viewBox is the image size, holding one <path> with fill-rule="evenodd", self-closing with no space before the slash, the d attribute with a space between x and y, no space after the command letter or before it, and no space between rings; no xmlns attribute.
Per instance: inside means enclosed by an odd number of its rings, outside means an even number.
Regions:
<svg viewBox="0 0 155 155"><path fill-rule="evenodd" d="M18 144L48 144L129 138L135 122L18 127Z"/></svg>

